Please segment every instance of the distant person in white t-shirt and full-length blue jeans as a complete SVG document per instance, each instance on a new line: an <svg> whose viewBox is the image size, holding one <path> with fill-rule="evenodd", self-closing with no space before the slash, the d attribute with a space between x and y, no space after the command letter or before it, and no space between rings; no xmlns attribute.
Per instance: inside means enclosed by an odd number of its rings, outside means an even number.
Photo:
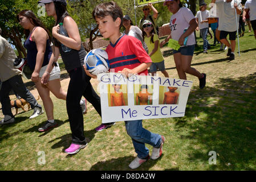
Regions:
<svg viewBox="0 0 256 182"><path fill-rule="evenodd" d="M208 35L208 28L209 28L209 24L208 24L208 18L209 18L209 11L206 10L206 3L203 2L201 4L200 7L200 11L197 11L197 15L196 15L196 21L197 21L197 31L198 29L200 29L200 35L202 37L202 39L204 40L204 53L208 53L207 50L210 47L210 44L207 40L207 35Z"/></svg>

